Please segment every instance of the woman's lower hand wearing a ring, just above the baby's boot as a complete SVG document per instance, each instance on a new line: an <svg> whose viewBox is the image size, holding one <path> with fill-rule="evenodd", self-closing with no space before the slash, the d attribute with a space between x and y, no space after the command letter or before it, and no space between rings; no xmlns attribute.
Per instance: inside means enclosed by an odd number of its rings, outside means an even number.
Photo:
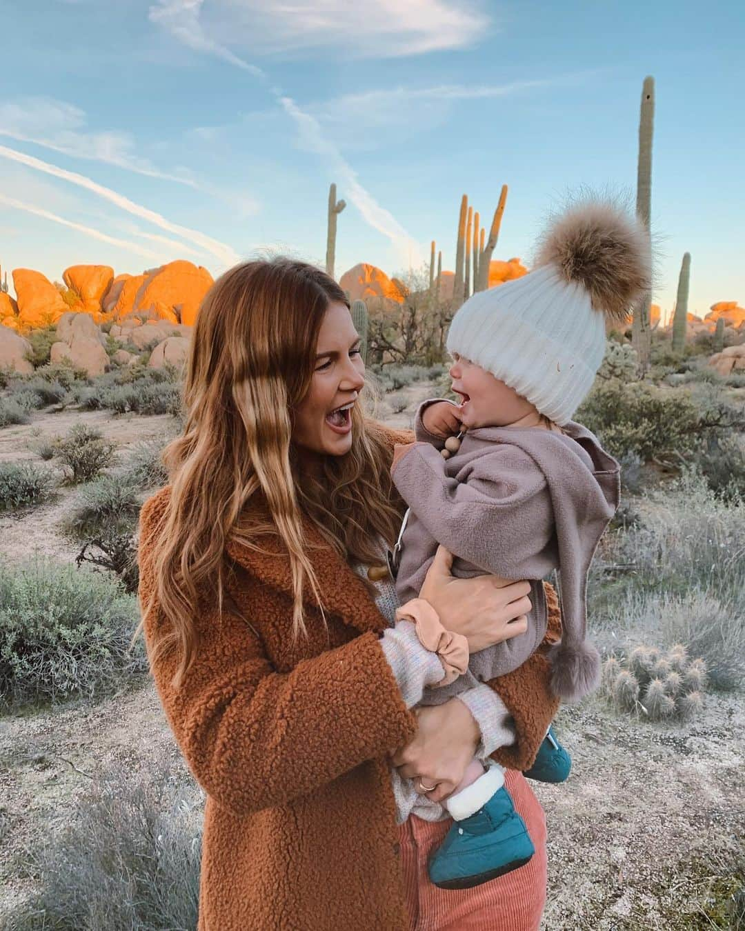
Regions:
<svg viewBox="0 0 745 931"><path fill-rule="evenodd" d="M441 802L460 785L466 767L481 740L479 725L462 701L416 708L419 730L411 743L392 758L401 776L414 780L414 788L432 802ZM435 786L426 792L420 786Z"/></svg>

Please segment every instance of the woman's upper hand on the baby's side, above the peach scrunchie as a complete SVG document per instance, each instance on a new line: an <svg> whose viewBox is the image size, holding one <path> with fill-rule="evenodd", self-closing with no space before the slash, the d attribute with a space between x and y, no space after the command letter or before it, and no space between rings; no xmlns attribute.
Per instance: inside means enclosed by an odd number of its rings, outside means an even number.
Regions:
<svg viewBox="0 0 745 931"><path fill-rule="evenodd" d="M456 579L452 566L453 554L439 546L419 598L432 605L442 627L466 637L470 653L525 633L533 607L529 582L507 582L496 575Z"/></svg>

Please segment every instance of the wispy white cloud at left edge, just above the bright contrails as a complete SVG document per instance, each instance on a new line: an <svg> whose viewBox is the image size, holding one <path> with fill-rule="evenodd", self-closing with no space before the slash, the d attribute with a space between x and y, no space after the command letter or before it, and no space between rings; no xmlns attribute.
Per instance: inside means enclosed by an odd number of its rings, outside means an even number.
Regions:
<svg viewBox="0 0 745 931"><path fill-rule="evenodd" d="M196 187L186 169L173 174L161 171L134 151L135 142L128 132L108 130L90 132L87 116L73 103L48 97L24 97L0 102L0 136L18 142L34 142L62 155L105 162L117 168L135 171L150 178Z"/></svg>

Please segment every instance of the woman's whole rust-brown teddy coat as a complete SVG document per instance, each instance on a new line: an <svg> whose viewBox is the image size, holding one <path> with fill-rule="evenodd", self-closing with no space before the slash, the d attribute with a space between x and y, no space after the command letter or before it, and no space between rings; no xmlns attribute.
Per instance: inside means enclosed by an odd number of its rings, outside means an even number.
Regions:
<svg viewBox="0 0 745 931"><path fill-rule="evenodd" d="M391 456L394 442L412 439L389 436ZM169 495L163 488L142 506L142 605L154 589L149 554ZM276 555L229 543L234 610L221 617L213 600L200 597L201 642L182 688L171 685L174 651L152 665L169 724L208 796L198 931L408 927L386 757L413 737L415 718L378 643L385 618L310 525L307 538L318 544L308 553L328 631L309 595L309 636L293 640L290 573L278 542ZM551 590L549 614L556 640ZM161 612L151 613L148 648L162 623ZM494 756L525 769L557 709L544 651L490 684L518 735L515 746Z"/></svg>

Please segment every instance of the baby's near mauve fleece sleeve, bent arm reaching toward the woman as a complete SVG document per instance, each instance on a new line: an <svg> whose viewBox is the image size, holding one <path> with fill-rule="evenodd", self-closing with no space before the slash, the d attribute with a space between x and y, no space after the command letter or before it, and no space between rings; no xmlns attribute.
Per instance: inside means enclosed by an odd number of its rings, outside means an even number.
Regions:
<svg viewBox="0 0 745 931"><path fill-rule="evenodd" d="M545 476L517 447L494 452L448 474L434 446L417 442L397 460L393 481L427 533L455 556L508 579L541 578L542 553L553 534Z"/></svg>

